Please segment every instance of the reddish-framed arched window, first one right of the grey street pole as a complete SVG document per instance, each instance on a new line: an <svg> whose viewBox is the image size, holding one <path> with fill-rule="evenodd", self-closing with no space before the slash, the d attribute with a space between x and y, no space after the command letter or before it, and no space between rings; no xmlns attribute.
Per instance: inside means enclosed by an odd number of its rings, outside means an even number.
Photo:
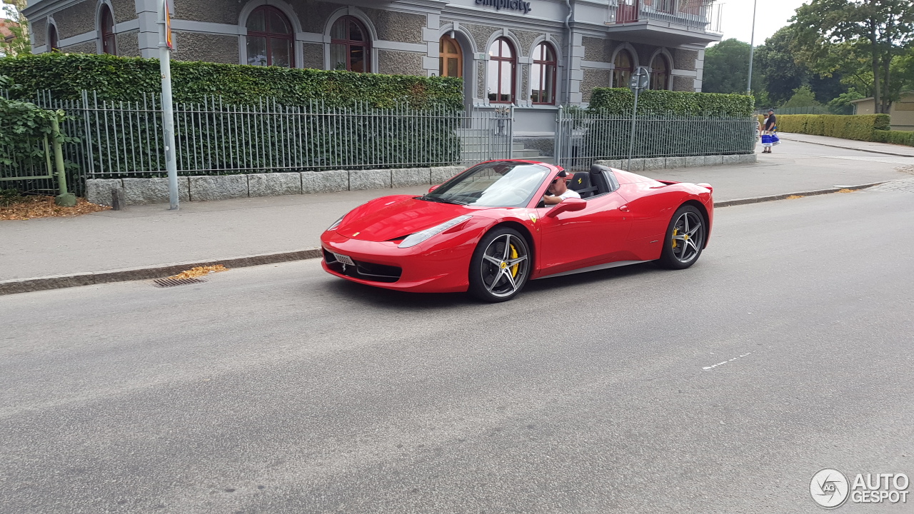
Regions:
<svg viewBox="0 0 914 514"><path fill-rule="evenodd" d="M248 64L295 67L292 24L282 11L260 5L248 16Z"/></svg>

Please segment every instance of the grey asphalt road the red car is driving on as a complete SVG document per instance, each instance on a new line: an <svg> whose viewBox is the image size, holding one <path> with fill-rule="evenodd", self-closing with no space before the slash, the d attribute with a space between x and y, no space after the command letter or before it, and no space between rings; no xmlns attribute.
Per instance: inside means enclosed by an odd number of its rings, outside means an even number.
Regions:
<svg viewBox="0 0 914 514"><path fill-rule="evenodd" d="M316 261L2 296L0 512L819 512L821 468L914 477L895 189L501 305Z"/></svg>

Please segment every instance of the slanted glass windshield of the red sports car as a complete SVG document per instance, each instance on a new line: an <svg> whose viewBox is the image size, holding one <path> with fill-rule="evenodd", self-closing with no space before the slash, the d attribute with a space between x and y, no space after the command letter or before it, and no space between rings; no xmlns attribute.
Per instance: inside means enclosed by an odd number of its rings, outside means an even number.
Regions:
<svg viewBox="0 0 914 514"><path fill-rule="evenodd" d="M422 199L475 207L526 207L549 173L547 166L495 161L473 166Z"/></svg>

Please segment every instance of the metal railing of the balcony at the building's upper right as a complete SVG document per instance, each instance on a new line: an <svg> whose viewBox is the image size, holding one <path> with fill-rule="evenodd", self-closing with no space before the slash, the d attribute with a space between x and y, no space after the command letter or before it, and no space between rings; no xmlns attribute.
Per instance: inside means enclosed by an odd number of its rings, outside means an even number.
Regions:
<svg viewBox="0 0 914 514"><path fill-rule="evenodd" d="M617 0L615 23L656 20L706 32L720 32L721 9L716 0Z"/></svg>

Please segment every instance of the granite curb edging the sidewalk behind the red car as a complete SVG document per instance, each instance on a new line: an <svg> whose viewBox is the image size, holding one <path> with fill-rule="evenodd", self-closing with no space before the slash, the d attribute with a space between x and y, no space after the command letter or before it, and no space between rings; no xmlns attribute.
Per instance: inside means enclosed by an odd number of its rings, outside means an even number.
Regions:
<svg viewBox="0 0 914 514"><path fill-rule="evenodd" d="M783 193L780 195L768 195L753 198L737 198L714 202L714 207L731 207L750 203L782 200L791 196L812 197L815 195L836 193L841 189L865 189L866 187L878 186L884 183L885 182L871 182L869 184L860 184L857 186L835 186L829 187L827 189L815 189L813 191L800 191L796 193ZM129 282L133 280L152 280L156 278L163 278L165 276L176 273L181 273L196 266L212 266L215 264L222 264L227 268L243 268L246 266L273 264L276 262L303 261L306 259L320 258L321 253L322 252L320 248L314 248L311 250L300 250L297 252L260 253L258 255L246 255L243 257L232 257L228 259L173 262L170 264L126 268L122 270L111 270L104 272L70 273L65 275L4 280L0 281L0 295L29 293L32 291L45 291L48 289L62 289L65 287L79 287L80 285L109 284L112 282Z"/></svg>

